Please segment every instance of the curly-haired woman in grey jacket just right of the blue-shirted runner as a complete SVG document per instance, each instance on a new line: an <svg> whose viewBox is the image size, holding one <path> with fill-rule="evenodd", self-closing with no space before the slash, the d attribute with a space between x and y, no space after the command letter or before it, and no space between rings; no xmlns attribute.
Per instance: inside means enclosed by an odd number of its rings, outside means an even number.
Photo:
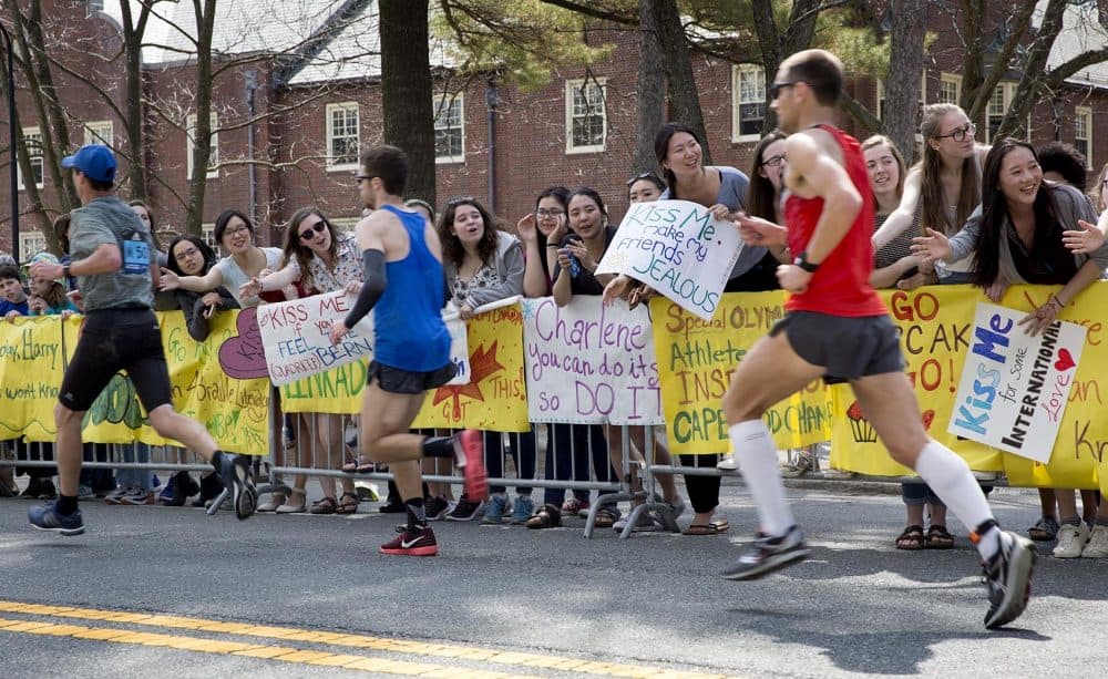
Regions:
<svg viewBox="0 0 1108 679"><path fill-rule="evenodd" d="M458 307L459 316L468 321L474 310L494 301L523 294L523 247L520 239L503 230L480 200L470 196L451 198L439 217L439 241L442 243L442 268L447 278L447 295ZM482 432L485 469L490 476L504 476L503 436L500 432ZM512 449L515 472L520 479L534 479L535 457ZM499 524L511 508L504 486L489 488L489 502L465 495L459 498L448 521L470 521L484 506L482 523ZM531 488L517 490L515 504L531 516L534 503Z"/></svg>

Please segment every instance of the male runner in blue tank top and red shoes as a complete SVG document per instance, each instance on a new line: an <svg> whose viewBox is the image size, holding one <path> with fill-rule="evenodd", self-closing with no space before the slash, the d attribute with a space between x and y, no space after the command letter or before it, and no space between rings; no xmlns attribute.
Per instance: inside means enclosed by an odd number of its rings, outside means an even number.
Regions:
<svg viewBox="0 0 1108 679"><path fill-rule="evenodd" d="M361 404L361 449L373 462L389 465L408 510L407 529L381 545L381 553L434 556L439 544L423 514L420 459L454 457L464 472L469 497L478 501L489 494L480 432L429 438L408 431L427 391L449 382L455 371L450 332L442 321L447 287L442 245L434 226L403 206L400 196L408 181L403 151L367 148L356 178L362 203L373 208L355 230L366 282L350 313L331 326L331 342L337 343L375 311L373 361Z"/></svg>

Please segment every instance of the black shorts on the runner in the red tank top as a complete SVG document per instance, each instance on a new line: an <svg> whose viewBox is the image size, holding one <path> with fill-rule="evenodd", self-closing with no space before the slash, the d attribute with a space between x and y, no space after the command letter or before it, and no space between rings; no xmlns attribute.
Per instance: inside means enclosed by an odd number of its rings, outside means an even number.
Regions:
<svg viewBox="0 0 1108 679"><path fill-rule="evenodd" d="M900 337L888 315L852 318L789 311L769 333L776 337L782 331L797 356L827 369L828 384L904 370Z"/></svg>

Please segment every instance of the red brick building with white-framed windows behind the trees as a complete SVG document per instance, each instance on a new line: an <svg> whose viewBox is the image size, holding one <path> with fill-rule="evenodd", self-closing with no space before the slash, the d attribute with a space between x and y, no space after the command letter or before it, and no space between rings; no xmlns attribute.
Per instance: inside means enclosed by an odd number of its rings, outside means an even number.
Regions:
<svg viewBox="0 0 1108 679"><path fill-rule="evenodd" d="M341 225L356 219L360 206L350 172L357 148L381 141L380 59L376 1L268 2L220 0L217 6L213 39L219 54L213 78L217 132L203 222L209 229L222 209L236 207L257 215L263 240L279 241L277 227L307 204L318 205ZM195 25L191 3L167 4L173 23ZM278 6L281 11L276 12ZM43 0L43 7L49 9L48 32L59 45L59 58L92 83L54 70L71 119L72 144L101 138L122 146L119 115L93 92L103 89L117 104L124 92L123 60L113 59L121 38L111 8L104 0ZM1096 24L1096 3L1075 3L1067 21L1091 17ZM935 40L921 74L923 102L957 102L963 58L954 21L956 17L932 7L929 24ZM1102 29L1074 27L1056 43L1051 64L1089 45L1108 44ZM172 229L184 222L183 197L191 174L195 65L182 59L182 52L194 48L187 35L168 24L151 31L148 42L163 47L150 48L143 55L144 97L158 102L156 113L146 116L150 144L144 162L154 177L150 193L157 222ZM587 184L602 193L618 219L626 208L624 182L632 173L635 146L637 40L632 31L603 31L589 39L612 42L614 50L589 70L587 80L584 69L574 68L552 72L550 83L533 92L493 88L483 79L461 89L449 79L440 80L441 91L435 93L440 203L472 195L492 203L496 214L514 226L542 188ZM445 54L442 45L432 45L433 63L449 65ZM749 171L765 113L761 68L695 55L694 69L714 162ZM985 120L979 121L979 141L989 141L1012 104L1017 79L1010 73L996 89ZM879 81L858 78L849 90L880 116ZM41 123L25 93L19 97L19 110L23 134L33 142ZM1089 66L1071 78L1053 101L1039 103L1030 119L1033 142L1074 143L1085 151L1090 172L1099 169L1108 161L1108 146L1101 142L1108 140L1108 66ZM842 123L853 127L845 116ZM0 132L0 144L7 146L6 140L7 132ZM42 202L50 209L57 197L41 157L35 172L42 179ZM24 193L21 185L23 210L29 207ZM0 200L7 205L6 183ZM21 228L28 228L25 222ZM8 241L10 227L4 219L0 249L9 249ZM21 241L25 257L40 249L42 237L25 233Z"/></svg>

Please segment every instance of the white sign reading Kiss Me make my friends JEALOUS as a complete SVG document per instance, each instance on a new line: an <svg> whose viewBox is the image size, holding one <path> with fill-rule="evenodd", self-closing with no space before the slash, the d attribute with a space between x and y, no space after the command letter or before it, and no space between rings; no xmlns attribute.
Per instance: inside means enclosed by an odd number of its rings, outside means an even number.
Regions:
<svg viewBox="0 0 1108 679"><path fill-rule="evenodd" d="M741 250L735 224L716 219L698 203L637 203L596 272L626 274L710 320Z"/></svg>

